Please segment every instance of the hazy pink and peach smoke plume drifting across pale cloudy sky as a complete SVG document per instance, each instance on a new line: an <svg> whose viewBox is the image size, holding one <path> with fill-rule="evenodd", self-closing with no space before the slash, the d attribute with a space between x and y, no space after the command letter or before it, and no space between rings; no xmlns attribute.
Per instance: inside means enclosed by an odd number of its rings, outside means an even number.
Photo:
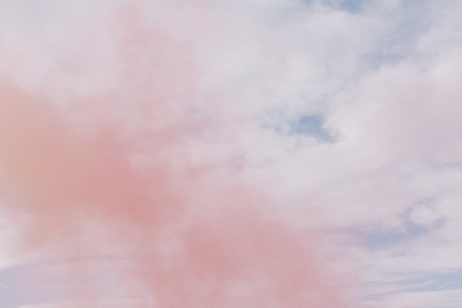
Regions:
<svg viewBox="0 0 462 308"><path fill-rule="evenodd" d="M204 96L195 38L143 23L132 7L114 16L117 69L89 68L94 42L82 42L40 87L2 80L0 187L24 251L117 256L118 283L141 285L156 307L341 306L314 236L278 220L261 190L201 147L239 120L220 112L220 93ZM13 70L35 61L0 52ZM91 69L103 72L98 91L60 85ZM117 86L104 82L111 72Z"/></svg>

